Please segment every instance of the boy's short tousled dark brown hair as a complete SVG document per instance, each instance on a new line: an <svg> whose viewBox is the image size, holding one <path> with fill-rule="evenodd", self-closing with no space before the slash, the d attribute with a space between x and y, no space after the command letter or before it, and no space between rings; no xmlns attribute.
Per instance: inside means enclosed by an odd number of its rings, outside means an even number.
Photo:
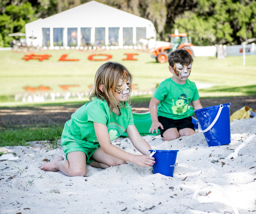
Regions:
<svg viewBox="0 0 256 214"><path fill-rule="evenodd" d="M169 65L173 68L175 63L180 63L183 66L190 65L193 62L192 56L188 53L186 49L177 49L168 54Z"/></svg>

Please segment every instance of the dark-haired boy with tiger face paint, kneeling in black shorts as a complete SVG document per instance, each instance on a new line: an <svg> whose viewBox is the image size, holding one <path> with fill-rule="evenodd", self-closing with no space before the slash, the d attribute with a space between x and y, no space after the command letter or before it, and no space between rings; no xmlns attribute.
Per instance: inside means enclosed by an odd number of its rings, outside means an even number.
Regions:
<svg viewBox="0 0 256 214"><path fill-rule="evenodd" d="M192 56L180 49L168 54L168 62L173 76L159 84L149 105L152 118L149 133L154 130L158 133L159 129L164 141L195 134L192 118L188 117L188 104L191 102L194 110L203 108L196 84L188 80Z"/></svg>

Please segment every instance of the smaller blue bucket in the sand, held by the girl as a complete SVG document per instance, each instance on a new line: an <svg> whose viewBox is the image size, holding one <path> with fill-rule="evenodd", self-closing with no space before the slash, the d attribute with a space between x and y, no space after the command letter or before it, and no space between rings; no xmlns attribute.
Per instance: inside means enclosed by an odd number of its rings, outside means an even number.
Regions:
<svg viewBox="0 0 256 214"><path fill-rule="evenodd" d="M153 149L149 150L153 152ZM165 176L173 177L174 166L176 163L177 152L179 150L155 150L153 155L156 163L153 165L154 174L160 173Z"/></svg>

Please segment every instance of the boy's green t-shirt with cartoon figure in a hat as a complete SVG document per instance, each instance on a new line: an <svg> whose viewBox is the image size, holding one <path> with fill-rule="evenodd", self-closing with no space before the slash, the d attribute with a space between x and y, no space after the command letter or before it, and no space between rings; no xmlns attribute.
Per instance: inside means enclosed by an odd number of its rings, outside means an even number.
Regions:
<svg viewBox="0 0 256 214"><path fill-rule="evenodd" d="M196 84L188 79L180 85L168 78L159 84L153 96L160 100L157 115L170 119L188 117L188 104L199 99Z"/></svg>

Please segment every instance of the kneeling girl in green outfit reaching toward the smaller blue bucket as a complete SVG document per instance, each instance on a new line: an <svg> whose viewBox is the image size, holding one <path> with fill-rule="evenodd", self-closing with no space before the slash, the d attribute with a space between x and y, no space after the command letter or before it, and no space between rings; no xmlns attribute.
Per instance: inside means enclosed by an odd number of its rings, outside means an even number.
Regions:
<svg viewBox="0 0 256 214"><path fill-rule="evenodd" d="M62 132L62 156L45 163L40 169L68 176L85 176L86 164L106 169L133 162L150 167L151 147L137 131L129 105L132 75L117 62L106 62L97 70L90 102L79 108L66 122ZM127 132L134 147L143 155L130 154L111 141Z"/></svg>

